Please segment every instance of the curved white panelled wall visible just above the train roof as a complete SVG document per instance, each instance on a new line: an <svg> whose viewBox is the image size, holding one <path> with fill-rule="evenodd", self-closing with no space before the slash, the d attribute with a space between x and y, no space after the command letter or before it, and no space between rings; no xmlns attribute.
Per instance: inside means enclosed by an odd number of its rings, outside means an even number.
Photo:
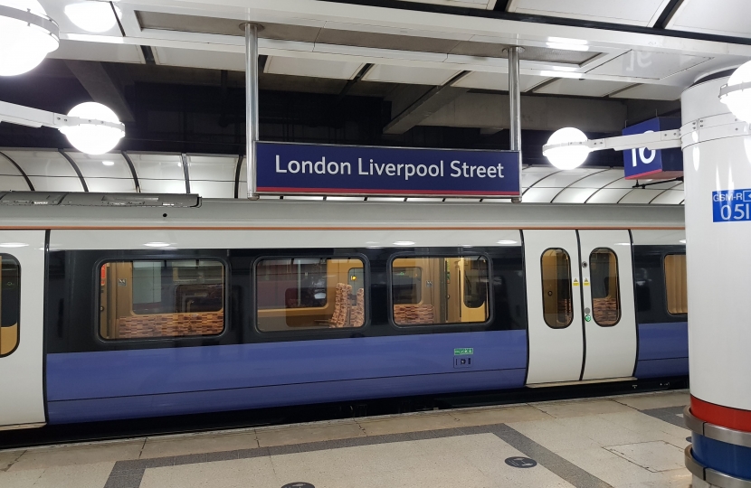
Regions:
<svg viewBox="0 0 751 488"><path fill-rule="evenodd" d="M197 193L204 198L237 198L247 188L245 162L229 155L183 155L122 152L90 156L74 151L0 149L0 192L140 192ZM559 171L553 166L528 166L522 170L522 202L527 203L683 203L683 183L648 183L623 178L623 168L582 167ZM84 186L85 185L85 186ZM278 199L279 197L264 197ZM285 197L321 200L322 197ZM327 197L362 201L363 197ZM369 201L404 198L368 197ZM409 198L407 202L480 199ZM502 203L508 200L486 199Z"/></svg>

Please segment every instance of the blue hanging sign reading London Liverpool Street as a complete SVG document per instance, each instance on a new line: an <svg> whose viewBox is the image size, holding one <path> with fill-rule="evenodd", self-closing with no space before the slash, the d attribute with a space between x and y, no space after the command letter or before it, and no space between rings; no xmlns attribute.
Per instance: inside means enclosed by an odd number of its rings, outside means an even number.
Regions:
<svg viewBox="0 0 751 488"><path fill-rule="evenodd" d="M518 151L256 144L256 190L267 194L512 197Z"/></svg>

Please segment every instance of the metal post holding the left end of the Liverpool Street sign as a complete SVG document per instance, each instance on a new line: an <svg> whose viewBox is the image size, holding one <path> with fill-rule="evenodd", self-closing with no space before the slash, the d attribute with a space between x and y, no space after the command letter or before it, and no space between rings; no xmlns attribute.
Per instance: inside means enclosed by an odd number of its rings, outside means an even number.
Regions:
<svg viewBox="0 0 751 488"><path fill-rule="evenodd" d="M245 30L245 131L248 168L248 199L255 194L255 143L258 141L258 31L256 23L243 23Z"/></svg>

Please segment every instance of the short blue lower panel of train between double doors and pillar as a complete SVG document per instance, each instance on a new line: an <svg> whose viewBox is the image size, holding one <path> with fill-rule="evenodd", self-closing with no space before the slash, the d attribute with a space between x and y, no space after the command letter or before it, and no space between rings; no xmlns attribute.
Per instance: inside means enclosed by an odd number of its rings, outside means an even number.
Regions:
<svg viewBox="0 0 751 488"><path fill-rule="evenodd" d="M636 378L689 374L689 324L639 324Z"/></svg>

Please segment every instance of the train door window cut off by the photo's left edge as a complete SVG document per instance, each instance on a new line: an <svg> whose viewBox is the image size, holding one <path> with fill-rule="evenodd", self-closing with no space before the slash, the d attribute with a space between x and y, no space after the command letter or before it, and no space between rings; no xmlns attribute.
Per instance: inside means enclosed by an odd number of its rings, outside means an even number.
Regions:
<svg viewBox="0 0 751 488"><path fill-rule="evenodd" d="M21 267L8 254L0 254L0 357L15 351L21 315Z"/></svg>

